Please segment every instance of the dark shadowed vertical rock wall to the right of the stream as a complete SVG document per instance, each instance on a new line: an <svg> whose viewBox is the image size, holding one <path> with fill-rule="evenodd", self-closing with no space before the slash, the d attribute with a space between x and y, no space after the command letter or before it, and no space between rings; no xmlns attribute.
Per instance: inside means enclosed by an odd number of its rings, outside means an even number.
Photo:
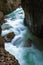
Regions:
<svg viewBox="0 0 43 65"><path fill-rule="evenodd" d="M43 33L41 35L41 32L43 32L43 0L22 0L23 7L26 12L26 19L29 21L30 16L30 22L32 27L31 31L39 36L42 37ZM28 24L29 26L30 24Z"/></svg>

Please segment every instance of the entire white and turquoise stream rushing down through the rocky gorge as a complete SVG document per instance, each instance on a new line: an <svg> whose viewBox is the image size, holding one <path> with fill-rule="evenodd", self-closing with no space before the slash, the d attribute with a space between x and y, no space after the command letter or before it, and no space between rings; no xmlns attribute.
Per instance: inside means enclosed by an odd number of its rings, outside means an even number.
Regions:
<svg viewBox="0 0 43 65"><path fill-rule="evenodd" d="M33 40L34 36L32 37L28 28L24 26L25 14L22 8L18 8L7 16L9 18L5 19L7 22L1 27L4 29L1 35L5 36L10 32L14 32L16 36L11 42L14 46L11 43L5 43L5 49L18 59L20 65L43 65L43 51L37 50L33 45L31 47L23 47L25 40L28 38ZM6 30L7 28L8 30Z"/></svg>

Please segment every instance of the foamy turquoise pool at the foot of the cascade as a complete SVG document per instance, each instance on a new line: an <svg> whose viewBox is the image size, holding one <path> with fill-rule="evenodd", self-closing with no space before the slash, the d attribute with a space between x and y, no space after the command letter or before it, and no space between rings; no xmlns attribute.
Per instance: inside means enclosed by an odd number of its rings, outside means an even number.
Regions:
<svg viewBox="0 0 43 65"><path fill-rule="evenodd" d="M43 65L43 51L32 47L16 47L5 44L5 49L18 59L20 65Z"/></svg>

